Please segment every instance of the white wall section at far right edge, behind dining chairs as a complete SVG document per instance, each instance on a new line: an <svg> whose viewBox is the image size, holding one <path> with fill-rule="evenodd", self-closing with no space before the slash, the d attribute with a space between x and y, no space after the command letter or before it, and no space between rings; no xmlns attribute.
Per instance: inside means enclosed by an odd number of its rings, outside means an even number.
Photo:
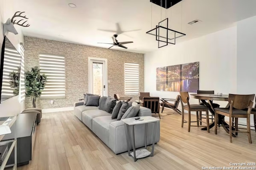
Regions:
<svg viewBox="0 0 256 170"><path fill-rule="evenodd" d="M237 23L237 93L255 94L256 16ZM246 122L246 119L242 121ZM253 124L253 115L251 115Z"/></svg>

